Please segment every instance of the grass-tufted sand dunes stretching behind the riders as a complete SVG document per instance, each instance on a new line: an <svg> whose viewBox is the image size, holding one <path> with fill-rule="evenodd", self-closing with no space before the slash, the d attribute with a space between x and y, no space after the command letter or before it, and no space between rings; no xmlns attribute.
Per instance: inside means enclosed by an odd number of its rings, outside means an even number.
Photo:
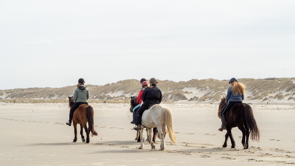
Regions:
<svg viewBox="0 0 295 166"><path fill-rule="evenodd" d="M245 85L245 99L247 101L294 101L295 78L238 78ZM228 80L192 79L189 81L174 82L158 80L158 87L163 94L163 102L189 101L212 103L219 102L226 96L229 87ZM129 103L130 96L137 96L141 88L140 81L136 79L120 80L104 86L86 85L90 91L89 102ZM68 96L73 95L76 85L63 88L26 88L0 90L0 97L4 102L65 102Z"/></svg>

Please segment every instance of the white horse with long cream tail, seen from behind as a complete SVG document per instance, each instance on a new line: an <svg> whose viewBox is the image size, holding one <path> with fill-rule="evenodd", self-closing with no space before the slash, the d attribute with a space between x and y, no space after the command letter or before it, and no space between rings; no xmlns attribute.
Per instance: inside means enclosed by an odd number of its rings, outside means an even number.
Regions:
<svg viewBox="0 0 295 166"><path fill-rule="evenodd" d="M172 112L171 110L163 105L155 104L150 109L145 110L142 114L142 126L140 129L140 147L139 149L143 149L143 129L148 129L148 139L150 140L150 145L152 149L155 149L154 142L152 141L152 129L154 127L157 127L157 130L159 132L159 136L161 139L161 150L165 149L165 136L166 133L169 134L169 138L171 142L176 142L176 137L173 130L173 121L172 121ZM167 129L167 130L166 130Z"/></svg>

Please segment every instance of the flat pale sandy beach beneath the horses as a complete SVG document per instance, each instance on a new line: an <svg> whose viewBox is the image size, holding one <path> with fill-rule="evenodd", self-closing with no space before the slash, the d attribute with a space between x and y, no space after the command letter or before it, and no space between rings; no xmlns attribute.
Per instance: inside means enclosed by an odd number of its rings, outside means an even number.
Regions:
<svg viewBox="0 0 295 166"><path fill-rule="evenodd" d="M260 142L249 140L243 149L242 133L233 128L231 149L230 140L222 148L226 131L218 131L217 104L164 104L173 112L178 143L167 136L161 151L158 138L156 150L147 141L138 149L129 104L89 104L98 136L86 144L79 134L73 142L66 103L0 103L1 165L295 165L294 105L251 105Z"/></svg>

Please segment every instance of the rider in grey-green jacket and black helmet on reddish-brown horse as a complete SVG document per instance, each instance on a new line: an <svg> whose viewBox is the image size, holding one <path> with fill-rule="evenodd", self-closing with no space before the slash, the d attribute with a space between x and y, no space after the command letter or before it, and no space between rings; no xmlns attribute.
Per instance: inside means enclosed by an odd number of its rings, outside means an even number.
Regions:
<svg viewBox="0 0 295 166"><path fill-rule="evenodd" d="M74 95L73 95L73 99L75 104L72 106L71 110L70 110L70 118L69 121L65 124L71 126L72 124L72 119L73 119L73 114L74 111L80 106L81 103L87 103L87 100L89 99L89 91L88 89L84 86L84 79L80 78L78 80L78 85L77 88L74 91Z"/></svg>

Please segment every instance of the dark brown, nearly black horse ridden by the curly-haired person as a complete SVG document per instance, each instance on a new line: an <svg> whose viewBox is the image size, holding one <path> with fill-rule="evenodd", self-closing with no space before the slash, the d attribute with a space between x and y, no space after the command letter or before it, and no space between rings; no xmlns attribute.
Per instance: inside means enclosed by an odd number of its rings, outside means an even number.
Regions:
<svg viewBox="0 0 295 166"><path fill-rule="evenodd" d="M226 104L225 97L221 99L218 108L218 117L220 118L220 111ZM230 137L230 141L232 143L231 148L235 148L235 141L232 138L232 128L238 127L242 131L242 144L244 149L248 149L249 144L249 134L251 133L252 141L259 142L260 140L260 131L256 124L256 120L253 115L253 110L250 105L246 103L237 103L232 109L230 109L226 116L226 130L225 141L222 147L227 147L227 139Z"/></svg>

